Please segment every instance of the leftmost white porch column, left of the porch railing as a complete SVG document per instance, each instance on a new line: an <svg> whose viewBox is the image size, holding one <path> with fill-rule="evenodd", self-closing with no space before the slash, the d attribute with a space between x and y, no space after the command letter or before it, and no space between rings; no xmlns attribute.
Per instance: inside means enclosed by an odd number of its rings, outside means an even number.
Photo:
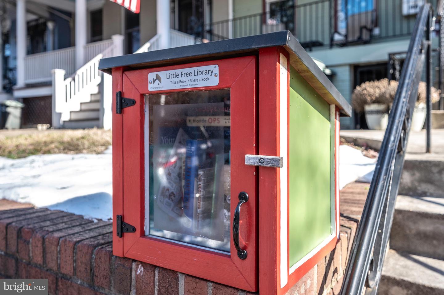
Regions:
<svg viewBox="0 0 444 295"><path fill-rule="evenodd" d="M27 50L28 28L26 22L26 0L17 0L16 7L16 46L17 46L17 84L16 87L25 85L25 56Z"/></svg>

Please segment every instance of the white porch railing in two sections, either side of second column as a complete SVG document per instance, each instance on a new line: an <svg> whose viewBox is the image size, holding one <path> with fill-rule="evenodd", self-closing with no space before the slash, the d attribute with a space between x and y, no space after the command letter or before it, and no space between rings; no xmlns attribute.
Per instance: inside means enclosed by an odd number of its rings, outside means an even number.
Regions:
<svg viewBox="0 0 444 295"><path fill-rule="evenodd" d="M84 62L90 61L112 44L111 39L86 44ZM27 55L25 57L25 83L50 82L52 69L65 70L67 76L71 76L77 70L75 68L75 47Z"/></svg>

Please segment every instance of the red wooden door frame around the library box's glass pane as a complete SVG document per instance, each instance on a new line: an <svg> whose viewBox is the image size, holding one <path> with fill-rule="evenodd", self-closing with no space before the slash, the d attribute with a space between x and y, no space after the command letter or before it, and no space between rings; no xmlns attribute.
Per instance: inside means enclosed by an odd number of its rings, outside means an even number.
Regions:
<svg viewBox="0 0 444 295"><path fill-rule="evenodd" d="M171 89L167 91L148 91L148 73L189 68L195 66L219 66L219 84L211 87L192 89ZM113 76L114 77L114 76ZM116 80L119 79L116 77ZM246 291L258 290L258 169L246 166L246 154L257 154L257 58L245 56L216 61L195 62L176 66L131 70L123 73L123 97L136 100L135 106L123 109L123 136L113 140L123 142L122 149L116 150L116 157L123 158L123 193L116 184L116 211L122 212L123 220L134 225L136 232L114 236L115 255L173 269L192 276L198 276L217 283L238 287ZM240 232L245 242L248 256L240 260L230 241L231 253L222 253L168 241L159 237L146 237L145 223L145 185L144 185L144 94L173 93L194 90L215 90L230 88L231 96L231 194L236 196L247 191L250 198L242 206ZM117 89L117 86L116 86ZM113 116L119 116L113 114ZM120 116L122 117L122 116ZM115 119L116 123L118 119ZM116 126L118 126L116 124ZM237 128L236 128L237 127ZM240 128L242 127L242 128ZM251 143L251 144L248 144ZM116 162L119 165L119 161ZM130 164L131 163L131 164ZM115 167L116 168L116 167ZM119 168L119 167L117 167ZM117 170L117 169L116 169ZM116 178L117 178L116 173ZM117 180L117 179L115 179ZM121 179L118 181L121 182ZM121 200L119 200L121 198ZM120 208L122 204L122 208ZM237 202L231 203L231 221ZM116 225L115 225L116 226ZM114 227L115 227L114 226Z"/></svg>

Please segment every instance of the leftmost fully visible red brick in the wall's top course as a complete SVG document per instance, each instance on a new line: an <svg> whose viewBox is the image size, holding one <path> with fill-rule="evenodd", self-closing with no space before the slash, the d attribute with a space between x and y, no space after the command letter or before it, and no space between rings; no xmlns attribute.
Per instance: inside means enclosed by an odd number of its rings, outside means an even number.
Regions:
<svg viewBox="0 0 444 295"><path fill-rule="evenodd" d="M66 216L67 214L62 211L43 211L39 213L35 213L33 217L28 217L27 219L13 222L8 225L7 234L8 234L8 245L7 250L8 253L16 254L17 253L17 245L18 240L20 238L20 232L22 227L26 225L37 225L44 221L54 220L60 216ZM32 215L32 214L31 214ZM29 254L28 254L29 255Z"/></svg>

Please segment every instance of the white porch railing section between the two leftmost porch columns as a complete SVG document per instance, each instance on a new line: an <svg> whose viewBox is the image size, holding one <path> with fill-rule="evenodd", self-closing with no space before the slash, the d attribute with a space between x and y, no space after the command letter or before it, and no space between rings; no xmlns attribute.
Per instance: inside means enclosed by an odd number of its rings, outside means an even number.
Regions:
<svg viewBox="0 0 444 295"><path fill-rule="evenodd" d="M25 83L51 81L52 69L63 69L68 75L75 71L75 47L30 54L25 57Z"/></svg>

